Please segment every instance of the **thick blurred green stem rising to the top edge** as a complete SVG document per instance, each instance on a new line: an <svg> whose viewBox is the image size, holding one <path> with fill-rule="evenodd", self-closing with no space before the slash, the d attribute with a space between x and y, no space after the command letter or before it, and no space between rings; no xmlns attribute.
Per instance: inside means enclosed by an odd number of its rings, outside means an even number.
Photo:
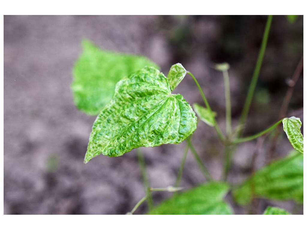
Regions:
<svg viewBox="0 0 307 230"><path fill-rule="evenodd" d="M266 51L266 43L267 43L268 36L269 36L272 17L273 17L272 15L269 15L267 22L266 22L266 28L265 28L265 31L264 31L264 34L263 34L262 44L261 44L261 48L260 48L260 51L259 51L259 54L258 54L257 63L256 63L256 66L255 66L255 71L254 71L254 74L253 74L253 77L252 77L252 80L251 80L250 87L248 89L247 97L246 97L246 100L245 100L245 104L243 106L243 110L242 110L241 117L239 119L238 126L245 123L248 111L249 111L250 106L251 106L251 101L252 101L252 98L253 98L253 95L254 95L254 92L255 92L256 83L257 83L260 68L261 68L261 65L262 65L263 56L264 56L264 53ZM238 136L240 136L240 135L241 135L241 130L239 131Z"/></svg>

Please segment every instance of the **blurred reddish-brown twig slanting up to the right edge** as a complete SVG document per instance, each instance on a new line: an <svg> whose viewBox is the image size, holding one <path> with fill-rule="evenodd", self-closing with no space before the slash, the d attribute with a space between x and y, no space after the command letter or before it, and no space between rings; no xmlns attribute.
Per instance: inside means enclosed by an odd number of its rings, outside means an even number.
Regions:
<svg viewBox="0 0 307 230"><path fill-rule="evenodd" d="M294 86L295 86L298 78L301 75L301 72L303 70L303 66L304 66L304 61L303 61L303 56L302 56L301 60L297 64L297 67L296 67L296 70L295 70L295 72L292 76L292 79L288 82L289 87L288 87L288 90L286 92L286 96L284 98L284 101L282 102L282 107L280 108L278 120L286 117L288 106L289 106L289 103L290 103L290 100L291 100L291 97L292 97L292 94L293 94ZM272 138L272 141L271 141L271 144L270 144L266 163L269 163L274 157L274 152L275 152L275 149L276 149L276 144L277 144L279 134L280 134L280 128L277 126L275 135Z"/></svg>

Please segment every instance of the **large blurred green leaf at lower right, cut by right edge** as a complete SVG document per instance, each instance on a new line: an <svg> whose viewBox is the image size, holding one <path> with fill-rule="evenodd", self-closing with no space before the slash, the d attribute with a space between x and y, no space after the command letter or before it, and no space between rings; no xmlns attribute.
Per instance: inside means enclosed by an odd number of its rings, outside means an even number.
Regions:
<svg viewBox="0 0 307 230"><path fill-rule="evenodd" d="M303 155L293 150L233 190L235 201L241 205L251 201L252 193L255 197L303 203Z"/></svg>

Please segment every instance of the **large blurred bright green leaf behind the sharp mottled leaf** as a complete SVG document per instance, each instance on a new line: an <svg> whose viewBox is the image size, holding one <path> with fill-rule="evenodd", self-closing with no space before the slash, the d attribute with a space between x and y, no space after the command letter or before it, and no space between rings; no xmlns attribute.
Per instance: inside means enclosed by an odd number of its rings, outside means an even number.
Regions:
<svg viewBox="0 0 307 230"><path fill-rule="evenodd" d="M115 84L145 66L157 67L146 57L101 50L89 40L73 68L72 91L78 109L97 115L112 98Z"/></svg>

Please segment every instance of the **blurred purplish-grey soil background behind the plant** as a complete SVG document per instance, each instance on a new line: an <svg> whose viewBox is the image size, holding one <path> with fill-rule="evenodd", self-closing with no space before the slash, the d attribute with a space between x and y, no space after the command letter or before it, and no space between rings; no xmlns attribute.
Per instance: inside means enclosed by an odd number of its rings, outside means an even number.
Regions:
<svg viewBox="0 0 307 230"><path fill-rule="evenodd" d="M4 16L4 214L125 214L144 196L136 151L121 157L99 155L84 164L95 117L76 109L70 85L72 67L87 38L99 47L149 57L167 75L171 65L193 73L225 131L223 76L214 63L228 62L233 127L241 113L260 48L266 16ZM303 16L290 23L274 16L246 131L252 135L274 124L297 63L303 55ZM192 78L174 93L204 105ZM303 74L287 117L303 121ZM281 127L280 127L281 128ZM301 128L303 131L303 127ZM263 143L256 167L266 164ZM192 142L214 179L223 169L223 146L213 128L199 121ZM238 146L229 182L251 174L257 140ZM142 148L152 187L174 185L185 142ZM274 159L292 146L281 132ZM206 182L189 153L181 186ZM154 192L158 204L171 196ZM236 205L235 214L251 207ZM256 213L275 205L302 214L292 201L258 199ZM146 203L134 214L145 214Z"/></svg>

